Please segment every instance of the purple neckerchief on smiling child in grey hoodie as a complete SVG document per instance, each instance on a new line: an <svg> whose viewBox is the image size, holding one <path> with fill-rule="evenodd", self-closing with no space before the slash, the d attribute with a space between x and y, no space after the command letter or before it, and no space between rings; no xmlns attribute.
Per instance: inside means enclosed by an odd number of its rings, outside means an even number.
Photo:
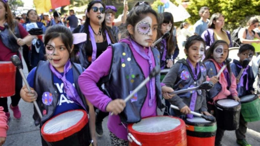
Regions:
<svg viewBox="0 0 260 146"><path fill-rule="evenodd" d="M189 61L189 59L187 58L186 60L187 60L188 64L190 65L190 68L192 70L192 74L193 74L194 80L196 80L198 75L199 75L199 73L200 73L199 63L196 64L196 70L195 70L193 65ZM192 87L194 87L194 86L191 85L190 88L192 88ZM190 102L190 109L191 109L191 111L195 110L196 99L197 99L197 91L193 91L192 95L191 95L191 102ZM191 119L191 118L193 118L193 115L192 114L187 114L187 117Z"/></svg>

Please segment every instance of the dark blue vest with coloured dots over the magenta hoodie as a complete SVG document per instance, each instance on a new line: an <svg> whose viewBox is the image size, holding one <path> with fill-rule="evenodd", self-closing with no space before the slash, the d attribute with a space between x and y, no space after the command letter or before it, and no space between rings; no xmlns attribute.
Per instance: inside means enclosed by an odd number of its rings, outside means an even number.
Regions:
<svg viewBox="0 0 260 146"><path fill-rule="evenodd" d="M105 88L112 99L125 99L133 91L145 76L141 67L136 62L132 50L126 43L116 43L112 45L113 59L109 74L102 79ZM155 65L160 66L160 54L156 48L151 48L155 59ZM157 106L161 109L161 85L160 74L155 77L155 91ZM119 114L121 121L125 123L135 123L141 121L141 109L147 96L146 86L142 87L135 97L129 100L126 107ZM155 100L155 99L154 99Z"/></svg>

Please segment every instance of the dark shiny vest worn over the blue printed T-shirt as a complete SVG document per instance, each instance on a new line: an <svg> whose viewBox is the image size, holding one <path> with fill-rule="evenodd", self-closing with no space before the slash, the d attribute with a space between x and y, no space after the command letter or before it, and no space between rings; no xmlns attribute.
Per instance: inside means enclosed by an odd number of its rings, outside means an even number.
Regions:
<svg viewBox="0 0 260 146"><path fill-rule="evenodd" d="M88 106L86 104L86 99L83 96L83 94L80 91L79 85L78 85L78 77L79 75L83 72L83 68L81 65L76 64L76 63L71 63L72 64L72 71L73 71L73 78L74 78L74 84L75 88L83 101L83 104L85 105L87 112L88 112ZM57 87L54 85L53 82L53 73L51 72L49 68L49 62L48 61L40 61L37 69L35 71L35 78L34 78L34 90L38 94L38 98L36 100L41 112L43 110L46 110L46 115L43 115L42 119L39 117L37 110L34 107L34 124L37 126L52 117L54 114L54 111L56 109L60 93ZM45 105L42 104L42 94L44 92L50 92L53 95L53 101L51 105Z"/></svg>

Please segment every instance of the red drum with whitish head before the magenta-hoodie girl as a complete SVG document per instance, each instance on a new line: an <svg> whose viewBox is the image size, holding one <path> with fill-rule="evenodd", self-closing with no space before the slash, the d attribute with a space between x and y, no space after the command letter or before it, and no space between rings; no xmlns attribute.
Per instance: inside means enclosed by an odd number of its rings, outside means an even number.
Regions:
<svg viewBox="0 0 260 146"><path fill-rule="evenodd" d="M186 128L183 120L172 116L143 118L139 123L128 124L129 145L186 146Z"/></svg>

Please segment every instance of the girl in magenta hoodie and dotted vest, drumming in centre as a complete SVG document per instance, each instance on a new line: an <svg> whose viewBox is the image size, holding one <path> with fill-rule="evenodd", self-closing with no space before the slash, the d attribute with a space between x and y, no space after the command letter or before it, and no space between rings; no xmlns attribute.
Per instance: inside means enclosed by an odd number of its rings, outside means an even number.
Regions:
<svg viewBox="0 0 260 146"><path fill-rule="evenodd" d="M109 115L107 123L112 145L128 145L127 123L156 116L157 105L162 108L161 91L173 91L169 87L161 87L160 75L157 75L138 91L136 98L124 102L123 99L160 64L159 51L151 47L158 28L157 13L151 6L145 3L135 6L129 12L124 27L126 38L109 46L79 77L79 85L86 98L100 110L115 114ZM105 84L107 95L96 85L100 79ZM166 98L171 97L167 95Z"/></svg>

